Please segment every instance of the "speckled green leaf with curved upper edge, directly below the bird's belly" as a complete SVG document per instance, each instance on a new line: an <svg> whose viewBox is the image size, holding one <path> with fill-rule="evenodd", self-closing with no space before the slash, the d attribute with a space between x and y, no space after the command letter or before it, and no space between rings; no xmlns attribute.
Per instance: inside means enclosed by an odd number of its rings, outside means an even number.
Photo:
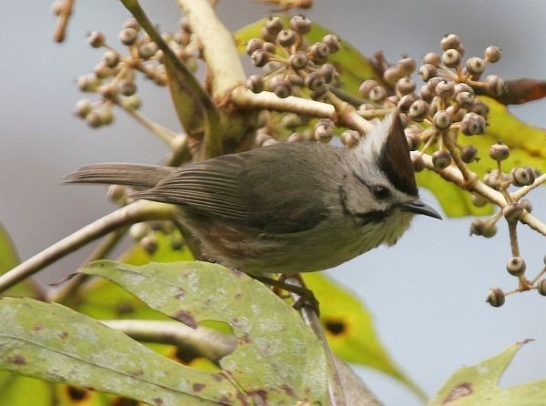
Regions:
<svg viewBox="0 0 546 406"><path fill-rule="evenodd" d="M102 260L83 271L116 282L187 325L227 323L238 346L220 367L245 391L267 395L271 404L326 404L328 371L319 340L295 310L257 280L198 261L135 267Z"/></svg>

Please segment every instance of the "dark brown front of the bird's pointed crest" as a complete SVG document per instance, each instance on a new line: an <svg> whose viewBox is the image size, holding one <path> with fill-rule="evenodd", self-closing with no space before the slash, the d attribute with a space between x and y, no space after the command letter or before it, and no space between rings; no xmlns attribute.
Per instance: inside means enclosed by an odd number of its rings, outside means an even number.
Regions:
<svg viewBox="0 0 546 406"><path fill-rule="evenodd" d="M392 119L389 137L381 148L378 165L395 188L410 196L418 195L410 148L398 114Z"/></svg>

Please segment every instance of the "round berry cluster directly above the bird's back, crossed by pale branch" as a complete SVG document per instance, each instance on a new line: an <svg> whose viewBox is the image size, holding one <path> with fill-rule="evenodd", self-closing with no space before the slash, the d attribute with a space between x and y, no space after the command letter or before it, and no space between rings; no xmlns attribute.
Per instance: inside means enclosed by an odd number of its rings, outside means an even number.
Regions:
<svg viewBox="0 0 546 406"><path fill-rule="evenodd" d="M260 37L247 44L247 53L254 66L262 68L262 75L248 77L247 86L254 93L268 90L278 97L309 97L323 100L329 96L330 86L339 86L340 77L335 66L328 63L330 54L339 51L339 38L332 34L321 41L309 44L305 35L312 22L304 15L293 16L285 26L279 17L270 17L263 26ZM277 125L273 117L257 131L256 144L267 147L286 137L288 142L319 141L329 143L336 126L332 120L323 118L314 127L303 128L308 117L294 114L283 115ZM292 132L285 136L283 130ZM297 131L299 130L299 131ZM340 140L348 147L359 142L358 131L344 131Z"/></svg>

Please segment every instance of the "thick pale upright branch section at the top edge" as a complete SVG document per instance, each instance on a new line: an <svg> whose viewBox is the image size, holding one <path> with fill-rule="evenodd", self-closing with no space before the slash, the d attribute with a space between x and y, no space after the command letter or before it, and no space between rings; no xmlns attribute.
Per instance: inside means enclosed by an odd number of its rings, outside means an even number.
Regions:
<svg viewBox="0 0 546 406"><path fill-rule="evenodd" d="M212 96L222 99L247 79L233 36L207 0L178 0L178 5L203 46L207 68L212 74Z"/></svg>

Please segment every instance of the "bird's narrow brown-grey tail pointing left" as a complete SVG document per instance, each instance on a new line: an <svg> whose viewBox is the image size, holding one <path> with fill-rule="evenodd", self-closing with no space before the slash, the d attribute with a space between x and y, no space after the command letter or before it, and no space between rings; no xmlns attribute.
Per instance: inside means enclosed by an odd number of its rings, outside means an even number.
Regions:
<svg viewBox="0 0 546 406"><path fill-rule="evenodd" d="M95 164L80 167L66 175L63 183L102 183L153 188L176 170L175 167L157 167L141 164Z"/></svg>

